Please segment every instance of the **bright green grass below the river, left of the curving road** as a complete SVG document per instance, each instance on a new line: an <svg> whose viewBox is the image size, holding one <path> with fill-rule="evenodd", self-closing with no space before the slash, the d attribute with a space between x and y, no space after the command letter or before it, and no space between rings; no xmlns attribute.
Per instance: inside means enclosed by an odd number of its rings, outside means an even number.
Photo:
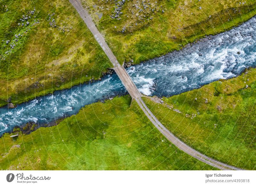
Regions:
<svg viewBox="0 0 256 186"><path fill-rule="evenodd" d="M216 170L167 141L129 96L87 105L50 128L0 140L11 170ZM16 133L13 133L16 134ZM164 142L162 142L162 140ZM20 145L20 148L13 145ZM5 153L8 153L7 155Z"/></svg>

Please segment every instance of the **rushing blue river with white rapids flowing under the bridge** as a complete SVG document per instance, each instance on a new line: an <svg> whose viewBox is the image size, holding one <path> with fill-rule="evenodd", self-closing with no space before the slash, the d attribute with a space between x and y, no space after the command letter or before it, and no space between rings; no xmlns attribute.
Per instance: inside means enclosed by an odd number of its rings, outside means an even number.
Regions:
<svg viewBox="0 0 256 186"><path fill-rule="evenodd" d="M170 97L219 79L241 74L256 66L256 19L227 32L208 36L182 50L173 51L127 68L128 74L147 96ZM84 83L52 95L37 97L14 109L0 108L0 136L14 126L34 121L47 124L76 114L84 105L92 104L126 90L114 73L101 81Z"/></svg>

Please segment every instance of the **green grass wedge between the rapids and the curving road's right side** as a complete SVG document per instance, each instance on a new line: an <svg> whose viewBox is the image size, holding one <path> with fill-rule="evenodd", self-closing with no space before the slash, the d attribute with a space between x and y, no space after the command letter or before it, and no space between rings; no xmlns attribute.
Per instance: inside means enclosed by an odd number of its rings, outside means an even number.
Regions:
<svg viewBox="0 0 256 186"><path fill-rule="evenodd" d="M163 98L164 104L143 99L163 125L189 146L221 162L255 170L255 77L256 69L251 69L236 78Z"/></svg>

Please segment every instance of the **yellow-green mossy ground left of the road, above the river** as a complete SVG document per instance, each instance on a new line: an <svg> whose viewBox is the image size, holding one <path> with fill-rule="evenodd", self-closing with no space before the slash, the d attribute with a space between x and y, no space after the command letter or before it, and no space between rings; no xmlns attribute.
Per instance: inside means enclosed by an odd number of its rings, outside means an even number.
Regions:
<svg viewBox="0 0 256 186"><path fill-rule="evenodd" d="M0 17L0 106L98 79L111 67L68 0L4 0Z"/></svg>

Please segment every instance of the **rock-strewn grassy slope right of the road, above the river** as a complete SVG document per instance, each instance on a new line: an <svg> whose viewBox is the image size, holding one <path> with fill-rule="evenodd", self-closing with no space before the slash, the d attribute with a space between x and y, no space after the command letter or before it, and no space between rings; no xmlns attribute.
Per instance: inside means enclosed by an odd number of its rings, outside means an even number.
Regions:
<svg viewBox="0 0 256 186"><path fill-rule="evenodd" d="M125 60L137 64L179 50L205 35L231 29L256 14L254 0L82 2L89 7L120 63Z"/></svg>

